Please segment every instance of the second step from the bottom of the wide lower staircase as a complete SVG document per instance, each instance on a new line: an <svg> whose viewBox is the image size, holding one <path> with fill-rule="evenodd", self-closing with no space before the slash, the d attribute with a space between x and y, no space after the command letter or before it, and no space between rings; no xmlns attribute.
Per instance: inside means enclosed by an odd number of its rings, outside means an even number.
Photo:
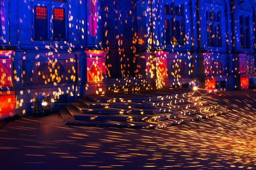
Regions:
<svg viewBox="0 0 256 170"><path fill-rule="evenodd" d="M207 106L200 106L195 107L192 109L182 109L179 111L172 111L168 113L159 113L154 115L124 115L124 114L85 114L79 112L75 107L72 105L66 106L67 111L69 111L70 115L73 119L76 120L96 120L96 121L135 121L135 122L157 122L163 121L165 119L172 119L180 116L192 115L197 113L203 113L207 111L216 110L219 108L219 105L207 105Z"/></svg>

